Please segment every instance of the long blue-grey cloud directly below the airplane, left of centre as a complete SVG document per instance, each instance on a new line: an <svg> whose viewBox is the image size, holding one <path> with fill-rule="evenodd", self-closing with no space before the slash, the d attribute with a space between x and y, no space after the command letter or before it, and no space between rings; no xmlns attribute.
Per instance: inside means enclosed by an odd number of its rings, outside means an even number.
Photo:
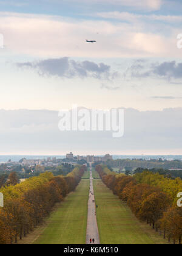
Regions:
<svg viewBox="0 0 182 256"><path fill-rule="evenodd" d="M96 79L113 79L117 73L110 71L110 66L104 63L96 64L85 60L76 62L67 57L59 59L46 59L39 62L17 63L19 68L33 68L41 76L57 76L57 77L93 77Z"/></svg>

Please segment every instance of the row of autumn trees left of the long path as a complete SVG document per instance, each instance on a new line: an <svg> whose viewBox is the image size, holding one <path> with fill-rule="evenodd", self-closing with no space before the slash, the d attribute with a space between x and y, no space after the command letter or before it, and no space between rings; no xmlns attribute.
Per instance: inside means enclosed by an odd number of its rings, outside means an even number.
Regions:
<svg viewBox="0 0 182 256"><path fill-rule="evenodd" d="M0 244L17 243L49 216L53 206L74 191L86 171L76 166L67 176L42 173L17 185L6 185L4 207L0 208Z"/></svg>

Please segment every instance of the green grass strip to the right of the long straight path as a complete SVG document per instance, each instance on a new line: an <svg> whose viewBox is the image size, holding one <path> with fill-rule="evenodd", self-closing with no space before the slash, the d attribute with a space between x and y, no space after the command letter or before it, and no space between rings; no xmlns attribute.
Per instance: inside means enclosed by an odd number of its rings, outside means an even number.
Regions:
<svg viewBox="0 0 182 256"><path fill-rule="evenodd" d="M101 180L93 180L101 244L165 244L166 240L143 224Z"/></svg>

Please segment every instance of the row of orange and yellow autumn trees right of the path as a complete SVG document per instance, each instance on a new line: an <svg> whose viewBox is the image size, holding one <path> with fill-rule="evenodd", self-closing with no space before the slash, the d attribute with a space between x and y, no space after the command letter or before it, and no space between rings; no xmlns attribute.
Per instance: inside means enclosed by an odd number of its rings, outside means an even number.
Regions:
<svg viewBox="0 0 182 256"><path fill-rule="evenodd" d="M146 221L164 239L178 241L182 236L182 207L177 207L177 194L182 191L182 180L166 178L144 171L134 176L109 174L105 166L96 166L99 176L113 194L129 205L140 221Z"/></svg>

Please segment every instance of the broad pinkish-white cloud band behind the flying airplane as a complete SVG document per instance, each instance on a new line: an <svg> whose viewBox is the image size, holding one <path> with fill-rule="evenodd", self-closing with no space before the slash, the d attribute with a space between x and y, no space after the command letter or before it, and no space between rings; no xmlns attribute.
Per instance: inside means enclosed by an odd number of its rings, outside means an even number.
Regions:
<svg viewBox="0 0 182 256"><path fill-rule="evenodd" d="M177 31L151 32L143 23L70 20L58 16L0 13L5 46L40 57L178 57ZM158 27L156 28L158 29ZM163 30L163 27L161 27ZM99 32L99 34L98 34ZM94 39L95 44L86 43Z"/></svg>

